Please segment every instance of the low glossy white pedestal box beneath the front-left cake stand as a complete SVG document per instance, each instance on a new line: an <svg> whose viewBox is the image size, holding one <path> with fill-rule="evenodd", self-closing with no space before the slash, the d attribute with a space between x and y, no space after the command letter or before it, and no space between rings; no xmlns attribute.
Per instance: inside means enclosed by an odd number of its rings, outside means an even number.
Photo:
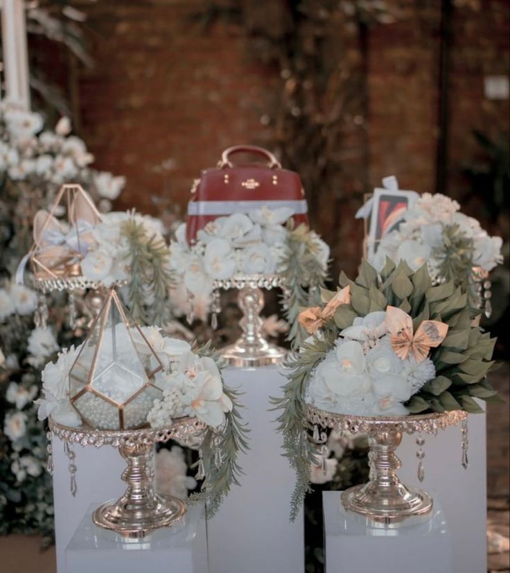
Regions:
<svg viewBox="0 0 510 573"><path fill-rule="evenodd" d="M208 573L203 504L189 506L182 520L144 540L125 540L94 525L96 505L67 546L68 573Z"/></svg>

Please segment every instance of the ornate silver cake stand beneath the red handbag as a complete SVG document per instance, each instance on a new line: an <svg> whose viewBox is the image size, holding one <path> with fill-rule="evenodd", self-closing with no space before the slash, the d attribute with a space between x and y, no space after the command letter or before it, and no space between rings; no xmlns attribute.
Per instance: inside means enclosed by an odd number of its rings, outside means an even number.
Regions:
<svg viewBox="0 0 510 573"><path fill-rule="evenodd" d="M262 289L281 288L285 296L285 279L278 275L248 275L215 280L213 286L213 317L221 310L220 290L237 289L238 305L243 311L243 318L239 322L243 333L234 344L222 350L222 357L232 366L241 368L268 366L283 361L287 351L265 338L261 311L264 307Z"/></svg>

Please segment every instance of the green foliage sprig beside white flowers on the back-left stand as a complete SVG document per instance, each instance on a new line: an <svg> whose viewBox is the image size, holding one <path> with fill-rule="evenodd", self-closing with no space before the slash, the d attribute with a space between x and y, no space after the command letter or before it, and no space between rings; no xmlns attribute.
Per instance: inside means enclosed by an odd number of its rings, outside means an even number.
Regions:
<svg viewBox="0 0 510 573"><path fill-rule="evenodd" d="M173 277L168 247L163 240L150 237L143 223L134 218L123 223L121 232L128 242L130 277L126 302L131 314L141 324L163 325L171 319L168 290Z"/></svg>

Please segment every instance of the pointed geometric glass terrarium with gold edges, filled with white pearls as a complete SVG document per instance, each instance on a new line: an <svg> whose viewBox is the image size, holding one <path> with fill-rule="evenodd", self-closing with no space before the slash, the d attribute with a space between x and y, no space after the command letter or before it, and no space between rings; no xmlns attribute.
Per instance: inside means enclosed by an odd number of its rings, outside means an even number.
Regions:
<svg viewBox="0 0 510 573"><path fill-rule="evenodd" d="M155 350L112 288L69 371L71 404L95 429L142 427L161 397L155 382L161 370Z"/></svg>

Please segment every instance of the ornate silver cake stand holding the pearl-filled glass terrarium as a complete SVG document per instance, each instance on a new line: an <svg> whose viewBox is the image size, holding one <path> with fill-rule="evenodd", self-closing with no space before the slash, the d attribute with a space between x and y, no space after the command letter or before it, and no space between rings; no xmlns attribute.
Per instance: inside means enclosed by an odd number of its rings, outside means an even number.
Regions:
<svg viewBox="0 0 510 573"><path fill-rule="evenodd" d="M128 468L122 479L128 485L125 493L117 500L110 500L100 505L92 515L94 523L104 529L116 531L126 538L143 538L161 527L175 524L186 514L186 504L181 499L169 495L160 495L154 490L154 445L168 440L181 443L196 443L206 425L197 418L177 418L173 424L164 429L142 428L134 430L109 431L89 427L73 428L58 424L49 419L50 436L64 441L64 446L71 444L101 447L112 445L118 447ZM51 456L51 444L49 445ZM71 492L73 476L76 474L75 454L67 454L71 459ZM49 460L49 470L52 462ZM74 482L76 493L76 481Z"/></svg>

